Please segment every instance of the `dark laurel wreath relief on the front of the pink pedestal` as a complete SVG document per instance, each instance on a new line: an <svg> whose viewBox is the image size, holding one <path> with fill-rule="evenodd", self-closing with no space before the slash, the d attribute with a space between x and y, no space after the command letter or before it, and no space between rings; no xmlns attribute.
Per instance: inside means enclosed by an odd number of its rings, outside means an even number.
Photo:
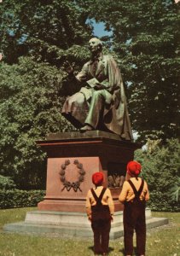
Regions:
<svg viewBox="0 0 180 256"><path fill-rule="evenodd" d="M67 180L66 178L66 168L68 165L71 164L70 160L65 160L65 163L61 165L61 171L60 173L60 179L61 179L61 183L63 183L64 187L61 189L61 191L63 191L65 188L67 189L67 191L70 191L72 188L75 192L78 191L78 189L82 192L82 190L80 189L80 184L84 181L84 175L85 175L85 171L83 168L83 165L81 163L78 162L78 160L74 160L73 164L77 166L78 168L78 180L71 183Z"/></svg>

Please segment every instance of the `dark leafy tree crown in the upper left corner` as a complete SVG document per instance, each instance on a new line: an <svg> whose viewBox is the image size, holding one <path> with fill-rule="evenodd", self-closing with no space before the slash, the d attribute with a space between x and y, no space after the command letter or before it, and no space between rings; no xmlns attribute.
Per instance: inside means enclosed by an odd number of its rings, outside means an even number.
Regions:
<svg viewBox="0 0 180 256"><path fill-rule="evenodd" d="M1 47L8 63L17 62L20 55L32 55L61 66L66 55L79 57L82 51L77 45L91 34L83 10L74 1L7 0L0 11Z"/></svg>

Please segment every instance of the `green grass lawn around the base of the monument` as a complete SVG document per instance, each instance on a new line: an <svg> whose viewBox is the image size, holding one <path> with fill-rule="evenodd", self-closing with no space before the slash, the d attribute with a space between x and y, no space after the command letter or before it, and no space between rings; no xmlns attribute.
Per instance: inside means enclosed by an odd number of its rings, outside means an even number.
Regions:
<svg viewBox="0 0 180 256"><path fill-rule="evenodd" d="M25 219L33 208L0 210L0 255L2 256L88 256L93 255L92 239L61 238L3 233L3 224ZM154 217L169 218L170 224L148 230L147 256L180 256L180 213L153 212ZM122 256L123 238L110 241L110 256Z"/></svg>

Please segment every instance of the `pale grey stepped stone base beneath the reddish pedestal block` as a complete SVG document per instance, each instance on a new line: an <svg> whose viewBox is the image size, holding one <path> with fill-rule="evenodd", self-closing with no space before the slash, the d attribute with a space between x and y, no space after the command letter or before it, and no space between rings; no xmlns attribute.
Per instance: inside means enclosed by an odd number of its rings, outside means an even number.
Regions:
<svg viewBox="0 0 180 256"><path fill-rule="evenodd" d="M151 211L147 209L146 224L147 229L151 229L168 224L168 219L152 218ZM27 212L25 222L6 224L3 226L3 230L17 233L49 233L49 236L50 234L58 234L61 237L93 238L90 222L86 214L82 212ZM115 212L110 231L110 239L113 240L121 236L124 236L123 212Z"/></svg>

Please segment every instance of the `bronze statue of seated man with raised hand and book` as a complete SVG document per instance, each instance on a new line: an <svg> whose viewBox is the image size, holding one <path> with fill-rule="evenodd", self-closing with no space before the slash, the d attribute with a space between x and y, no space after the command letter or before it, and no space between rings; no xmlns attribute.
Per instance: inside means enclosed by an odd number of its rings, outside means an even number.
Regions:
<svg viewBox="0 0 180 256"><path fill-rule="evenodd" d="M111 131L132 140L131 123L126 106L125 89L117 63L111 55L102 54L102 41L89 41L91 59L78 75L66 68L78 83L86 83L73 96L68 96L62 114L80 131Z"/></svg>

